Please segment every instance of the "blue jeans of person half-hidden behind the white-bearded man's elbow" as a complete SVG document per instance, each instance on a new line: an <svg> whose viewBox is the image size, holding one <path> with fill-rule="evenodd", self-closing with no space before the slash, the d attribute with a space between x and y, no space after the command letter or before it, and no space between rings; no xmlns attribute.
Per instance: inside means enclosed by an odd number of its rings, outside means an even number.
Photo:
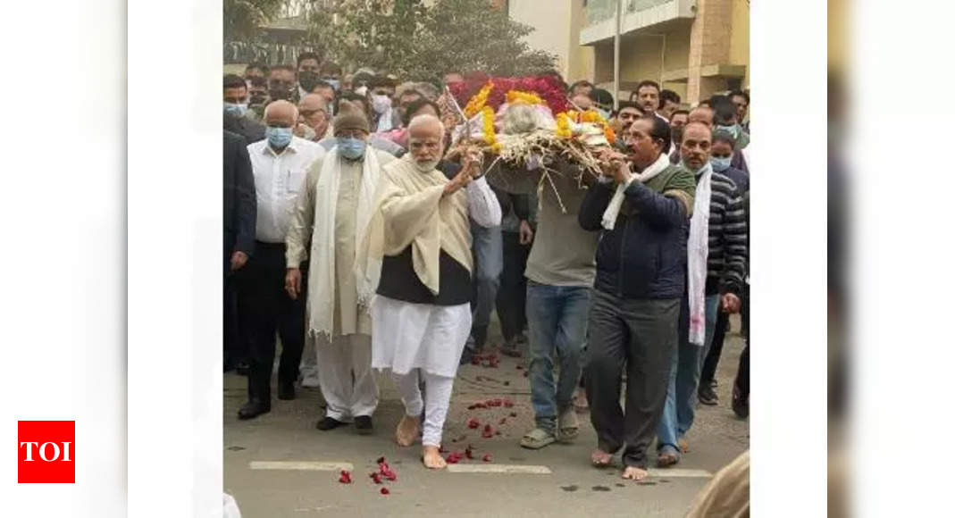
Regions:
<svg viewBox="0 0 955 518"><path fill-rule="evenodd" d="M498 299L504 252L499 226L486 228L472 222L471 238L475 259L475 293L471 304L473 320L468 345L471 349L480 349L487 341L487 326L491 323L491 311Z"/></svg>

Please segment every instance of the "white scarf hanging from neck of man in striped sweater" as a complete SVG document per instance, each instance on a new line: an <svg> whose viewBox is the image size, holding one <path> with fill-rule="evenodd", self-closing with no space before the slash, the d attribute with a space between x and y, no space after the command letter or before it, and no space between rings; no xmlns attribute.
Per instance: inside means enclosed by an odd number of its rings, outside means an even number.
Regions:
<svg viewBox="0 0 955 518"><path fill-rule="evenodd" d="M707 256L710 255L710 194L713 170L708 161L697 173L687 241L688 292L690 297L690 343L704 345L707 330Z"/></svg>

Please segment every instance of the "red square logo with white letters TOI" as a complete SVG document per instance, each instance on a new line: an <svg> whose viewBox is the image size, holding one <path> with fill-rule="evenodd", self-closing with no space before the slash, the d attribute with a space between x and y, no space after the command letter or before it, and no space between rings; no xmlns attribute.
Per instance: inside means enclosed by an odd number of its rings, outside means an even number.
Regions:
<svg viewBox="0 0 955 518"><path fill-rule="evenodd" d="M17 482L74 484L74 421L17 422Z"/></svg>

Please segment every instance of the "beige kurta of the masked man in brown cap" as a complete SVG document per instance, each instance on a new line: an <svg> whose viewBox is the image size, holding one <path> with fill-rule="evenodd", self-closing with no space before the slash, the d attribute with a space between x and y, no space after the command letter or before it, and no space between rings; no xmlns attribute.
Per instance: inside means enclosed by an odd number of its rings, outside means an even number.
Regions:
<svg viewBox="0 0 955 518"><path fill-rule="evenodd" d="M375 153L379 163L385 164L393 159L391 155L368 149ZM328 156L328 155L326 155ZM334 224L334 263L335 287L333 330L331 337L352 334L371 335L371 317L368 312L358 306L358 288L354 275L355 240L357 238L357 220L359 189L361 186L362 162L340 160L338 194L335 198L334 215L330 215L329 207L318 206L316 203L316 186L321 176L325 157L316 160L308 168L306 185L303 187L296 203L295 213L288 227L286 236L286 260L288 267L293 267L306 259L309 241L312 238L313 227L319 224L319 218L335 218ZM311 243L316 246L317 243ZM309 268L318 265L309 264ZM309 276L310 277L310 276ZM308 281L308 315L311 316L310 303L316 300L312 293L313 284ZM309 322L309 328L312 328Z"/></svg>

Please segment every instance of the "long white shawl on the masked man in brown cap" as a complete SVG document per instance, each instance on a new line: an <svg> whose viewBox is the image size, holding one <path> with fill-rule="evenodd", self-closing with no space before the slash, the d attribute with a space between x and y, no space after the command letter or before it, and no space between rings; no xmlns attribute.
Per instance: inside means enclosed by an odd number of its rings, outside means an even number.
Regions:
<svg viewBox="0 0 955 518"><path fill-rule="evenodd" d="M374 193L381 176L381 167L375 153L375 150L367 147L362 161L355 215L356 245L362 242L368 230L374 207ZM338 156L336 147L325 155L322 162L322 172L315 185L315 210L322 211L324 217L315 218L308 269L308 334L324 335L329 339L334 332L335 321L335 210L342 159ZM351 266L346 265L349 271L352 271ZM363 276L358 276L356 280L359 294L374 289L363 285ZM367 308L364 309L367 311Z"/></svg>

